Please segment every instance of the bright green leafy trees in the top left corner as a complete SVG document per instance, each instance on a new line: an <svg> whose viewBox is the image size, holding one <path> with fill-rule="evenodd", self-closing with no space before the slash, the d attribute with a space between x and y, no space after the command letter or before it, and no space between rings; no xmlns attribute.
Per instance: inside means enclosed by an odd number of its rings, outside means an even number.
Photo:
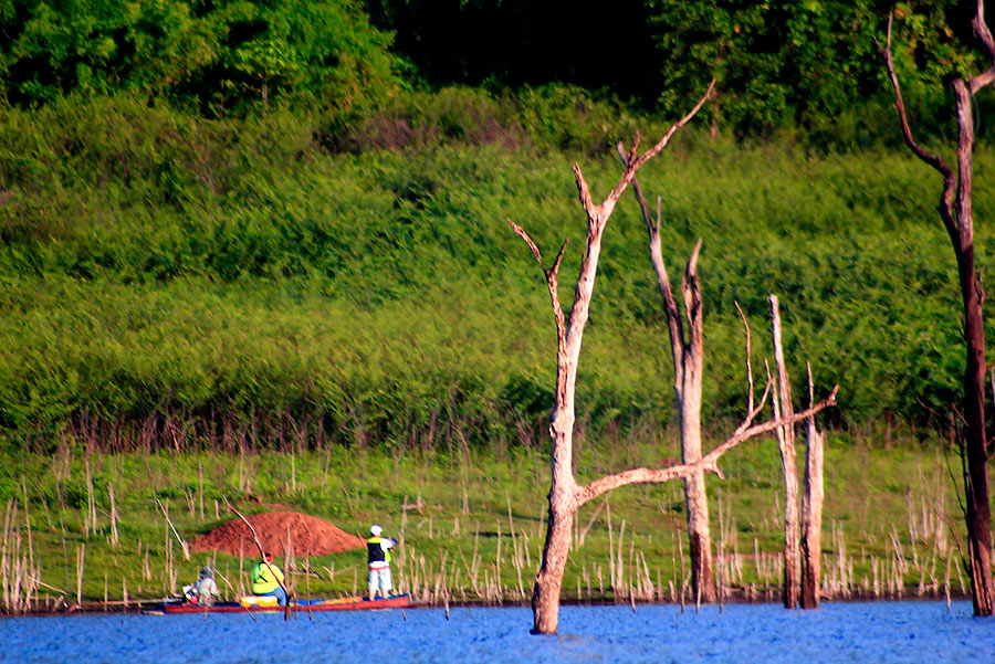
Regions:
<svg viewBox="0 0 995 664"><path fill-rule="evenodd" d="M272 96L352 107L400 84L353 0L0 3L0 87L19 105L128 91L209 115Z"/></svg>

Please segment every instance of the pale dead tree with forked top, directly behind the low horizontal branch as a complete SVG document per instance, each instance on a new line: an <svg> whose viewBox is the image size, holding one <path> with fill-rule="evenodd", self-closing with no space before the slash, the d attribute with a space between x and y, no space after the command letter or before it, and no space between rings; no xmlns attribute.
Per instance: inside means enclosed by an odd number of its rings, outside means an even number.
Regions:
<svg viewBox="0 0 995 664"><path fill-rule="evenodd" d="M622 162L626 152L621 145L617 146ZM698 278L698 256L701 252L701 240L691 252L684 265L684 277L681 282L681 294L684 299L684 315L688 319L688 334L684 335L684 323L681 312L670 287L667 265L663 263L663 251L660 244L660 198L657 198L657 220L650 217L646 198L639 187L639 180L632 177L632 193L642 211L646 231L649 235L650 261L657 274L657 285L663 297L663 310L667 314L667 329L670 334L670 355L673 359L673 399L678 410L678 425L681 435L681 461L694 463L701 459L701 386L704 378L704 335L703 307L701 301L701 282ZM684 506L688 512L688 542L691 556L691 590L698 600L715 601L715 584L712 581L712 535L709 528L709 499L705 491L704 472L696 472L684 477Z"/></svg>

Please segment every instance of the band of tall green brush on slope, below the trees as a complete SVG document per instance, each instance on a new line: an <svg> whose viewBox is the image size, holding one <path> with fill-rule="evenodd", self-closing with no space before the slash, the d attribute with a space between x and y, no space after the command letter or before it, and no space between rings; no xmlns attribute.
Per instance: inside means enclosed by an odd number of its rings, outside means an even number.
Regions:
<svg viewBox="0 0 995 664"><path fill-rule="evenodd" d="M558 120L559 134L528 119L566 117L559 104L572 99L415 95L409 107L434 104L419 115L429 138L355 155L316 143L322 116L191 123L127 98L11 110L0 134L2 426L21 440L39 426L177 420L205 440L226 419L287 415L310 423L308 438L346 442L533 440L551 405L552 318L505 219L548 255L570 239L568 298L584 226L558 146L605 146L582 162L595 191L618 172L607 107ZM978 155L978 181L986 165ZM923 167L689 133L640 179L662 196L672 275L705 242L710 417L742 412L734 304L760 371L768 293L784 303L796 378L810 360L821 389L842 386L838 422L945 411L962 350ZM981 219L988 200L980 190ZM671 401L632 199L605 242L579 388L593 433L666 421Z"/></svg>

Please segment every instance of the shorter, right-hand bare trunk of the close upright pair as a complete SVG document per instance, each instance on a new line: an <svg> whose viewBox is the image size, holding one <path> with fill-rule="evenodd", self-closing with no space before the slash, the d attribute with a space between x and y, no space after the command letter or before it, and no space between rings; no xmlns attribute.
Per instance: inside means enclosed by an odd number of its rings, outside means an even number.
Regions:
<svg viewBox="0 0 995 664"><path fill-rule="evenodd" d="M808 368L808 404L815 401ZM805 446L805 493L802 495L802 608L819 608L823 557L823 434L808 419Z"/></svg>

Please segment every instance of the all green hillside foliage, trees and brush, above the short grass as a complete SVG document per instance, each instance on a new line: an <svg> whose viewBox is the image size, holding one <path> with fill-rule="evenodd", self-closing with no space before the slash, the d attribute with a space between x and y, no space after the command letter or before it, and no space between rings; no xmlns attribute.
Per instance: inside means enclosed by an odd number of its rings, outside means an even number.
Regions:
<svg viewBox="0 0 995 664"><path fill-rule="evenodd" d="M427 64L450 22L548 22L551 7L460 3L394 48L390 30L422 3L0 3L2 435L42 447L66 431L122 446L284 445L291 431L308 444L542 438L552 314L506 219L547 260L569 239L567 302L585 230L569 164L604 196L615 144L661 136L710 74L705 123L640 173L662 197L672 278L704 240L706 415L716 429L742 415L735 305L761 376L775 293L796 380L811 361L820 390L841 386L835 424L945 425L963 360L954 271L939 182L881 145L881 8L626 4L617 20L666 54L663 114L612 101L641 94L598 77L619 60L548 60L534 76L523 53L489 52L484 66L457 50L449 74ZM947 107L940 81L974 64L943 28L955 9L896 13L897 66L925 129ZM622 55L637 51L648 57ZM461 78L482 87L440 86ZM982 267L991 159L982 146ZM627 196L585 336L582 435L670 418L647 254Z"/></svg>

